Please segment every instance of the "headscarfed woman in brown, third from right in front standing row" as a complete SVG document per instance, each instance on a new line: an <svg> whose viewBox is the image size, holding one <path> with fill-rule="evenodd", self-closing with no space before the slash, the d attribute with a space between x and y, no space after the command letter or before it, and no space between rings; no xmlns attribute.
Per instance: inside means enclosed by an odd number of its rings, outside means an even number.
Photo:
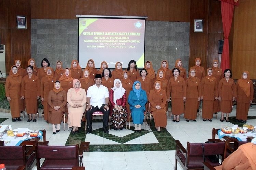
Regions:
<svg viewBox="0 0 256 170"><path fill-rule="evenodd" d="M206 73L207 76L202 78L201 81L201 100L203 100L202 118L204 122L206 119L211 122L214 99L218 99L218 88L216 78L212 75L212 69L208 68Z"/></svg>

